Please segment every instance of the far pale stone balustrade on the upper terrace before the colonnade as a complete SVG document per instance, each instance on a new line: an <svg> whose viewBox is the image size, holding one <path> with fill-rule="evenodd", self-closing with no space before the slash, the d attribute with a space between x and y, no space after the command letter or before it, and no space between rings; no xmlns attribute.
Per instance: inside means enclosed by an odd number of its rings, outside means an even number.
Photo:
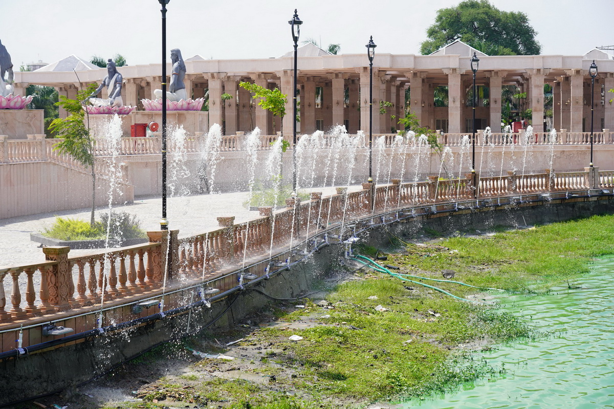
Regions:
<svg viewBox="0 0 614 409"><path fill-rule="evenodd" d="M368 137L364 135L351 135L350 137L357 138L357 147L365 148L368 144ZM185 153L193 153L201 151L203 146L204 134L198 132L197 136L188 136L181 149L176 143L168 139L168 152L176 153L182 151ZM261 136L258 150L270 150L277 136ZM378 139L384 138L383 143L376 143ZM485 135L484 131L476 133L476 146L501 146L508 145L589 145L591 143L590 132L567 132L565 129L557 132L556 140L550 132L534 132L527 136L524 129L517 133L497 133ZM232 135L223 136L220 145L220 152L244 151L246 136ZM323 148L334 148L334 139L328 135L323 137ZM379 147L418 147L425 145L426 142L418 138L404 138L402 142L397 138L397 134L376 134L373 135L374 149ZM438 137L438 141L443 146L462 147L471 144L471 134L443 134ZM67 166L77 166L74 159L68 155L60 155L53 150L53 146L58 142L58 139L45 139L44 135L29 135L28 139L8 139L4 135L0 135L0 163L18 163L18 162L34 162L34 161L58 161ZM596 145L612 145L614 144L614 132L609 129L604 129L600 132L594 132L593 143ZM104 139L96 139L94 147L95 156L112 156L112 155L159 155L161 153L161 140L159 136L153 137L126 137L122 138L119 146L111 144Z"/></svg>

